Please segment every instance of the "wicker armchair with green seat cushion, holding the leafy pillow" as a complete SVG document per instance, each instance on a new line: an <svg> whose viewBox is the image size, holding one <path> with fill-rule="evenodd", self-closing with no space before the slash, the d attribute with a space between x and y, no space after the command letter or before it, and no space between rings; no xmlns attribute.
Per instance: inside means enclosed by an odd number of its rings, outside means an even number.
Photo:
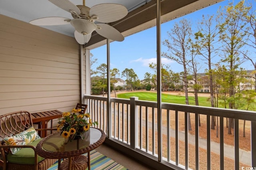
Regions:
<svg viewBox="0 0 256 170"><path fill-rule="evenodd" d="M36 144L40 139L28 144L28 145L6 145L4 138L13 137L20 132L33 127L33 122L31 114L28 111L17 111L8 113L0 116L0 153L1 160L0 165L3 166L4 170L47 170L57 159L46 159L38 156L36 152ZM36 130L46 130L46 129L36 129ZM48 129L47 129L48 130ZM34 144L33 144L34 143ZM34 146L33 146L34 145ZM9 158L16 158L16 154L10 152L10 148L20 148L21 152L29 152L30 163L20 163L15 161L10 161ZM20 156L20 155L19 155ZM17 156L18 157L18 156ZM22 156L21 156L22 157ZM22 158L17 158L22 159ZM28 160L28 158L25 158ZM20 160L19 160L20 161Z"/></svg>

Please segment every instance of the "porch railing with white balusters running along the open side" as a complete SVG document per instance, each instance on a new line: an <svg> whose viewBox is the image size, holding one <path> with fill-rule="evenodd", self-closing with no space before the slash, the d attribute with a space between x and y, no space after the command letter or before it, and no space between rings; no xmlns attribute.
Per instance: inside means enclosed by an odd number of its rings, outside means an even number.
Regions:
<svg viewBox="0 0 256 170"><path fill-rule="evenodd" d="M243 166L256 167L255 111L162 103L162 124L160 126L162 140L158 140L156 102L141 101L136 97L130 100L111 98L111 115L108 115L107 98L84 96L84 99L93 121L99 122L98 127L105 131L108 138L117 143L123 143L131 150L143 152L153 159L161 156L160 162L172 168L212 169L216 166L213 165L214 162L218 162L220 170L226 168L239 170ZM218 138L215 137L218 139L217 142L212 139L216 130L210 127L211 116L214 116L218 122L215 126L219 131ZM228 118L233 120L232 125L234 125L231 135L226 133ZM243 131L241 125L244 121L246 121L249 141L246 141L241 134ZM190 124L192 131L188 130ZM233 139L234 145L226 144L224 136ZM239 147L240 143L243 143L241 147ZM242 148L244 145L247 149ZM162 146L161 153L158 153L158 146ZM218 160L216 161L216 158L212 158L211 155L217 156ZM231 167L230 162L234 162L231 163ZM201 164L206 167L202 167Z"/></svg>

